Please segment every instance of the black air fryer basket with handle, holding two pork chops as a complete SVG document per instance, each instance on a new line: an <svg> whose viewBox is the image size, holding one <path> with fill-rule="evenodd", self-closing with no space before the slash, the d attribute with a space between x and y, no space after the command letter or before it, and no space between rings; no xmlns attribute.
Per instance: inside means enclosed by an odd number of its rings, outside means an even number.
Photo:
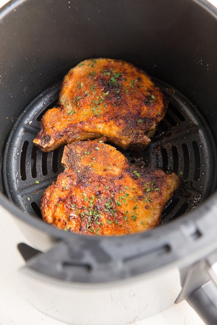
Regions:
<svg viewBox="0 0 217 325"><path fill-rule="evenodd" d="M202 0L26 0L3 7L0 203L36 248L58 242L30 259L29 268L95 283L178 266L183 291L177 302L187 299L206 323L217 323L210 298L217 297L210 276L217 260L216 38L217 11ZM87 237L41 218L40 198L61 172L63 149L45 153L33 145L40 119L57 102L69 69L98 57L132 62L170 98L148 147L122 150L131 163L173 171L182 180L163 225L137 235ZM57 270L57 263L67 268Z"/></svg>

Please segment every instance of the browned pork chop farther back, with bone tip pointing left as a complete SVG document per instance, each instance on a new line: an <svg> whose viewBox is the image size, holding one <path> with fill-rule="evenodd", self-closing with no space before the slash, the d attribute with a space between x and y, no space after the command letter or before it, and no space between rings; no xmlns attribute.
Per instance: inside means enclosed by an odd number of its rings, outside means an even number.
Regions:
<svg viewBox="0 0 217 325"><path fill-rule="evenodd" d="M106 136L123 149L144 149L167 107L168 99L141 69L123 60L85 60L65 76L59 107L44 114L34 144L52 151Z"/></svg>

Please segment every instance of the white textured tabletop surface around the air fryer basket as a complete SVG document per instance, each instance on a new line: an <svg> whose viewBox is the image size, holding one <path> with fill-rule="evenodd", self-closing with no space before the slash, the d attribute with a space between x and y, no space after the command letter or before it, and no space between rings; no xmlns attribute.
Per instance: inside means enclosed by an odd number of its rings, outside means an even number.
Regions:
<svg viewBox="0 0 217 325"><path fill-rule="evenodd" d="M0 0L0 7L7 0ZM210 0L217 6L217 0ZM0 211L1 245L0 245L0 325L61 325L60 321L51 319L34 308L25 297L20 287L17 271L24 266L24 261L17 250L20 242L28 243L15 226L10 215ZM162 298L162 312L142 320L133 322L139 325L203 325L202 320L186 301L173 305L164 310ZM122 323L125 325L125 323ZM81 323L82 325L82 323ZM126 324L127 325L127 324Z"/></svg>

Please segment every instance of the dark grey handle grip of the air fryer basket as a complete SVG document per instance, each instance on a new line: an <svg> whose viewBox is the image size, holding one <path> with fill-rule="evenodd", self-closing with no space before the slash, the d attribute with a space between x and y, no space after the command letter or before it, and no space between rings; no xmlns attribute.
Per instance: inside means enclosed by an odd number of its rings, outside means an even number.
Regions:
<svg viewBox="0 0 217 325"><path fill-rule="evenodd" d="M189 294L186 301L205 324L217 324L217 287L212 280Z"/></svg>

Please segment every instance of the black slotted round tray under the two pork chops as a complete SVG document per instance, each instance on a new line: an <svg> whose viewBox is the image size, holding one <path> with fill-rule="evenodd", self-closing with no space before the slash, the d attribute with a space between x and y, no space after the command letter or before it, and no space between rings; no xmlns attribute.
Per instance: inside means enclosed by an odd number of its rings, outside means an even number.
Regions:
<svg viewBox="0 0 217 325"><path fill-rule="evenodd" d="M118 149L133 164L173 171L182 179L180 189L163 211L165 223L197 207L215 189L216 153L209 128L195 106L169 85L155 82L169 96L170 104L152 141L140 152ZM41 218L43 191L62 171L63 148L46 153L33 144L41 117L57 102L60 85L45 90L23 110L4 153L5 192L24 212L36 218Z"/></svg>

